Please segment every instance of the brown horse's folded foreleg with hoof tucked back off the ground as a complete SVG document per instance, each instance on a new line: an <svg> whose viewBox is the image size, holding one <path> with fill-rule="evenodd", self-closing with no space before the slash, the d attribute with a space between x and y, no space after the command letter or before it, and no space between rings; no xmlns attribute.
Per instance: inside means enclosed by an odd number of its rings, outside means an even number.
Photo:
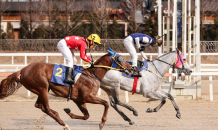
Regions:
<svg viewBox="0 0 218 130"><path fill-rule="evenodd" d="M87 120L89 118L89 112L86 108L86 104L84 103L77 103L75 102L76 105L79 107L80 111L84 114L84 116L78 116L73 113L70 113L71 110L69 108L65 108L64 111L72 118L72 119L83 119Z"/></svg>

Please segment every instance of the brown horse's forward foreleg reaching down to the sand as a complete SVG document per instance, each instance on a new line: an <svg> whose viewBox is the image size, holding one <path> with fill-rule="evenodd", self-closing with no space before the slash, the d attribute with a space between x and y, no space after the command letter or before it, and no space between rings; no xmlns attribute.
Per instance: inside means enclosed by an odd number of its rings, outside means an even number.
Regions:
<svg viewBox="0 0 218 130"><path fill-rule="evenodd" d="M108 108L109 108L109 104L107 101L100 99L94 95L90 95L89 98L86 100L87 103L93 103L93 104L102 104L104 105L104 114L102 116L102 122L101 124L99 124L99 128L100 130L104 127L104 124L107 120L107 113L108 113Z"/></svg>

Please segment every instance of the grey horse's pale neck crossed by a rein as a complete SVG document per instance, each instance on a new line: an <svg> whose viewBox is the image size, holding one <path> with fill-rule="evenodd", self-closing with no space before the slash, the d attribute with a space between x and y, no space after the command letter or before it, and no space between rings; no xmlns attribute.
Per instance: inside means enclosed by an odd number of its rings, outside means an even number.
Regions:
<svg viewBox="0 0 218 130"><path fill-rule="evenodd" d="M170 69L170 65L173 65L176 59L176 52L171 52L166 54L165 56L162 56L160 58L157 58L159 60L154 60L154 64L157 67L158 71L164 75L168 72L168 70ZM164 63L164 62L166 63ZM169 63L169 64L167 64Z"/></svg>

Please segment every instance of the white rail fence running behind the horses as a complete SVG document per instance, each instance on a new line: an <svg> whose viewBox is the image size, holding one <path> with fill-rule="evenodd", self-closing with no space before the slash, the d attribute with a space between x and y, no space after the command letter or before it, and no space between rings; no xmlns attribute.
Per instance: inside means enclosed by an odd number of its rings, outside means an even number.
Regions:
<svg viewBox="0 0 218 130"><path fill-rule="evenodd" d="M106 53L92 53L92 56L102 56ZM119 53L122 56L129 56L129 53ZM79 56L79 53L75 53L75 56ZM90 53L87 53L90 55ZM138 53L138 55L140 55ZM158 53L145 53L145 55L149 56L152 59L153 56L157 56ZM193 55L193 54L192 54ZM218 53L201 53L201 56L215 56ZM8 72L16 72L19 71L18 67L25 67L27 66L27 57L29 56L45 56L46 62L49 62L49 56L62 56L61 53L0 53L0 56L10 56L11 57L11 64L1 64L0 67L15 67L16 69L0 69L0 73L8 73ZM23 56L24 57L24 64L14 64L14 57L16 56ZM144 60L144 59L142 59ZM64 59L64 65L66 65L66 60ZM83 60L80 59L80 65L83 64ZM192 66L192 65L190 65ZM206 67L217 67L218 64L201 64L201 66ZM210 101L213 101L213 84L212 84L212 76L218 75L218 69L201 69L201 73L192 73L191 76L196 75L204 75L209 76L209 92L210 92ZM176 73L172 74L172 76L177 76ZM98 96L101 95L101 89L98 91ZM30 92L28 91L28 96L30 96ZM126 102L129 102L128 92L125 92Z"/></svg>

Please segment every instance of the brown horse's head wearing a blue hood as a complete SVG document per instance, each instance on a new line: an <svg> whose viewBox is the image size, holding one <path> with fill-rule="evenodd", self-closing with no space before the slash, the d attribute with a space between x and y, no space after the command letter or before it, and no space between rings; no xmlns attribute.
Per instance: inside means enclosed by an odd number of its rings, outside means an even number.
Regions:
<svg viewBox="0 0 218 130"><path fill-rule="evenodd" d="M124 58L114 52L110 47L109 50L107 50L110 58L111 58L111 66L112 68L120 68L122 69L127 75L130 75L133 73L133 68L124 60Z"/></svg>

